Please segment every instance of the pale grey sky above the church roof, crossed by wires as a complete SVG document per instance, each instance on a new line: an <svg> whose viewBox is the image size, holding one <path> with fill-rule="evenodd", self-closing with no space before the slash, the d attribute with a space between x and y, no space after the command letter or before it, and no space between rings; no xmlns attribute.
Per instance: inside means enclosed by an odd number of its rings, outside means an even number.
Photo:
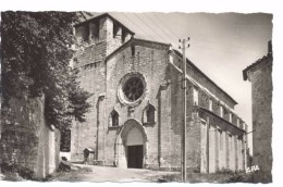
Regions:
<svg viewBox="0 0 283 187"><path fill-rule="evenodd" d="M94 13L98 15L101 13ZM251 132L251 84L243 70L268 53L272 14L254 13L126 13L110 12L136 38L171 43L189 37L186 57L238 104L236 113ZM249 146L251 146L251 134Z"/></svg>

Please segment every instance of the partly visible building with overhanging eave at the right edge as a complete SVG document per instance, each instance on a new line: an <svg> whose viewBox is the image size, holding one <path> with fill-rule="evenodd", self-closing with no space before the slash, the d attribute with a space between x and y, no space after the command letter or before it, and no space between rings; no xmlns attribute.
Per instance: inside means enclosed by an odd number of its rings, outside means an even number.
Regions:
<svg viewBox="0 0 283 187"><path fill-rule="evenodd" d="M258 165L255 182L272 182L272 45L268 54L243 71L244 80L251 83L253 165Z"/></svg>

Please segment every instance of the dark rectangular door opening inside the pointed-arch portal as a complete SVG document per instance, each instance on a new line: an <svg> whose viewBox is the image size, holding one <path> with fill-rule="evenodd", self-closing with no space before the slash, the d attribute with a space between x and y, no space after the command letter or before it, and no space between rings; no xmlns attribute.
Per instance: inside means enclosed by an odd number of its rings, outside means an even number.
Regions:
<svg viewBox="0 0 283 187"><path fill-rule="evenodd" d="M144 146L128 146L127 147L127 167L143 169L144 161Z"/></svg>

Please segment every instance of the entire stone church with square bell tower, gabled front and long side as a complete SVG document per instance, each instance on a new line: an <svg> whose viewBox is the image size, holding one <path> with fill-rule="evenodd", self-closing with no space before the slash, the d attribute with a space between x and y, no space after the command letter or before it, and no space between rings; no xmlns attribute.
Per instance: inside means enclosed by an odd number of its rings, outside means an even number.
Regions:
<svg viewBox="0 0 283 187"><path fill-rule="evenodd" d="M110 14L75 25L72 64L93 94L85 123L71 129L71 161L86 148L98 164L180 170L183 124L182 54L170 45L134 37ZM237 102L187 60L187 167L239 171L247 125Z"/></svg>

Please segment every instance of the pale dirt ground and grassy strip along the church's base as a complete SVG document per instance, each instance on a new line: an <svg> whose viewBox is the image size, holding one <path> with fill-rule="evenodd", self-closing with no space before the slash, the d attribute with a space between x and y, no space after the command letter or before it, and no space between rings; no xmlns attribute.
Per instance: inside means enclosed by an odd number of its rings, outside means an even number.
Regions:
<svg viewBox="0 0 283 187"><path fill-rule="evenodd" d="M138 169L119 169L110 166L76 164L77 170L58 172L48 177L48 182L182 182L180 172L164 172ZM253 183L253 176L244 172L222 172L216 174L192 173L187 183Z"/></svg>

